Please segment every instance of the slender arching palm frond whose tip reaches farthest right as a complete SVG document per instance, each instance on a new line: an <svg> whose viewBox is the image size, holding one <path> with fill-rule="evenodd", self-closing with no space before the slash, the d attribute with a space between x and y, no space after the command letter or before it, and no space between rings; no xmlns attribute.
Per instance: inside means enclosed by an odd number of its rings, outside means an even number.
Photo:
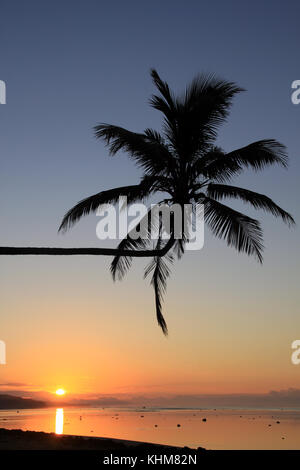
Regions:
<svg viewBox="0 0 300 470"><path fill-rule="evenodd" d="M218 201L227 197L239 198L244 202L250 203L255 209L263 209L270 212L275 217L281 217L283 222L288 225L295 224L293 217L275 204L272 199L263 194L249 191L248 189L211 183L207 186L207 195Z"/></svg>

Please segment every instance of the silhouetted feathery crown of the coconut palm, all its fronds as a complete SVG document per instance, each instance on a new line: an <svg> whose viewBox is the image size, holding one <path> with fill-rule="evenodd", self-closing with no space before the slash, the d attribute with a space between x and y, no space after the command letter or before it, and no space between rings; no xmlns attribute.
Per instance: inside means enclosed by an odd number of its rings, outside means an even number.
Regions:
<svg viewBox="0 0 300 470"><path fill-rule="evenodd" d="M289 225L294 224L292 216L269 197L229 184L245 168L258 171L273 164L286 167L285 146L267 139L224 152L215 145L217 130L228 116L233 97L243 90L233 82L201 75L192 81L183 95L175 96L155 70L151 70L151 77L158 94L151 97L150 104L163 114L161 133L152 129L135 133L110 124L95 126L96 137L104 140L111 155L124 150L142 169L140 182L101 191L80 201L66 213L59 230L67 230L82 216L102 205L116 203L120 196L127 196L128 203L132 203L161 193L161 204L183 206L202 203L205 223L212 233L224 239L227 245L254 256L262 263L263 234L259 221L220 201L238 199L255 209L271 212ZM151 209L147 217L150 212ZM146 267L145 276L152 276L157 321L167 334L162 297L170 274L169 263L174 257L182 256L188 240L184 236L181 240L172 239L171 232L171 242L166 242L161 236L162 223L159 221L158 225L156 249L166 247L168 243L167 252L153 258ZM149 222L149 234L150 228ZM133 239L128 234L120 242L118 253L111 263L113 279L122 279L131 265L132 258L122 255L124 250L144 250L152 243L149 238Z"/></svg>

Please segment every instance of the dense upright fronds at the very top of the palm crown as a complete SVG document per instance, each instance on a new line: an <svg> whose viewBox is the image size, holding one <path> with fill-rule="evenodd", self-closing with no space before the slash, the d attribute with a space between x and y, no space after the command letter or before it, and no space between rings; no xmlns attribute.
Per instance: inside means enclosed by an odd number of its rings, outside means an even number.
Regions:
<svg viewBox="0 0 300 470"><path fill-rule="evenodd" d="M151 106L164 114L165 135L179 157L191 160L216 138L217 127L226 119L232 98L243 91L233 82L213 75L200 75L175 98L156 71L152 78L161 96L153 95Z"/></svg>

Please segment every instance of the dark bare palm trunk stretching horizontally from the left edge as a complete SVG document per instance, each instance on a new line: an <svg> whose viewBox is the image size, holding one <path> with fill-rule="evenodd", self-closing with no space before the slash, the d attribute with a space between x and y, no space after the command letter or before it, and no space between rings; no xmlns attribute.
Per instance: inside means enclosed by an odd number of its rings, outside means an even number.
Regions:
<svg viewBox="0 0 300 470"><path fill-rule="evenodd" d="M136 258L164 256L174 245L170 238L159 250L118 250L118 248L50 248L50 247L11 247L1 246L0 255L96 255L96 256L131 256Z"/></svg>

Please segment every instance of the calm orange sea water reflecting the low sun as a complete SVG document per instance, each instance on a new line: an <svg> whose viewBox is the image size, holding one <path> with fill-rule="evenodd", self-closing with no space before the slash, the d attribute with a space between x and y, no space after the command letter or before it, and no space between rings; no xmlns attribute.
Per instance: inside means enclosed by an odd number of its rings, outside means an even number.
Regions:
<svg viewBox="0 0 300 470"><path fill-rule="evenodd" d="M300 410L0 410L0 427L191 448L300 449Z"/></svg>

